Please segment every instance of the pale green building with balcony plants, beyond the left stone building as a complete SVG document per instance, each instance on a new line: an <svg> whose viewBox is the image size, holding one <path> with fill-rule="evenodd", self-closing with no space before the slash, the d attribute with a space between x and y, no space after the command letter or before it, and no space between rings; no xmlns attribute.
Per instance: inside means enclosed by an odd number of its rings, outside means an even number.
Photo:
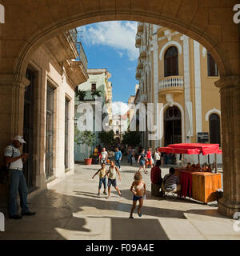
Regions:
<svg viewBox="0 0 240 256"><path fill-rule="evenodd" d="M98 138L99 130L96 129L95 126L95 119L96 119L96 109L95 109L95 100L96 97L102 97L102 123L105 118L107 119L107 123L109 125L112 124L113 117L112 117L112 83L108 81L111 77L111 74L108 72L107 69L88 69L87 74L89 78L86 82L83 82L81 85L78 86L78 90L83 90L86 92L85 97L79 100L78 97L75 98L75 118L80 120L82 113L81 113L81 103L86 102L90 103L93 110L93 132L95 134L95 142L93 146L101 144ZM75 143L74 148L74 159L75 161L82 161L84 158L87 158L87 146L81 145L79 146ZM92 151L93 149L91 149Z"/></svg>

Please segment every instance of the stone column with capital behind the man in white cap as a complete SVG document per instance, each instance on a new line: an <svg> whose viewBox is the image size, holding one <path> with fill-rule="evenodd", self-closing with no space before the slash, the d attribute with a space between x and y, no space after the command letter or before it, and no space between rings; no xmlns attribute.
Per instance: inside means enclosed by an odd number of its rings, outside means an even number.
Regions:
<svg viewBox="0 0 240 256"><path fill-rule="evenodd" d="M24 92L30 81L21 75L0 74L0 159L15 135L23 135Z"/></svg>

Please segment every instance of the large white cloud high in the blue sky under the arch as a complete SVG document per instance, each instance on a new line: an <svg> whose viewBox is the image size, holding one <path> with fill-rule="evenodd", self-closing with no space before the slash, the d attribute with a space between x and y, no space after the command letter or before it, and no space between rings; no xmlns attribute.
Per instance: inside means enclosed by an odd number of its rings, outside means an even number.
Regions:
<svg viewBox="0 0 240 256"><path fill-rule="evenodd" d="M83 41L87 44L110 46L118 54L119 51L126 53L131 61L138 58L138 49L135 47L137 22L99 22L78 30L82 30Z"/></svg>

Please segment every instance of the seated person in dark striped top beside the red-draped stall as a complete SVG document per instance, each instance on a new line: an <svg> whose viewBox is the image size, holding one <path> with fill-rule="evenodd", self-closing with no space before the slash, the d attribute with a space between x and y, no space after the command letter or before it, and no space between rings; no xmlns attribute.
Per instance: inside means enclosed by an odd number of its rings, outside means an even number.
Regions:
<svg viewBox="0 0 240 256"><path fill-rule="evenodd" d="M162 191L178 193L181 191L181 184L178 175L174 174L175 169L170 168L169 174L166 174L162 182Z"/></svg>

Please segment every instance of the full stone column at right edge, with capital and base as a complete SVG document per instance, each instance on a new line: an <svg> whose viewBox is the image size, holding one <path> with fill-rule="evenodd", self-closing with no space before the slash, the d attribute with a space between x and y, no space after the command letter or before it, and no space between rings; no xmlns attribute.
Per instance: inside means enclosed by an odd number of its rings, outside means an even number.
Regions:
<svg viewBox="0 0 240 256"><path fill-rule="evenodd" d="M232 217L240 212L240 77L215 82L221 94L223 198L218 212Z"/></svg>

